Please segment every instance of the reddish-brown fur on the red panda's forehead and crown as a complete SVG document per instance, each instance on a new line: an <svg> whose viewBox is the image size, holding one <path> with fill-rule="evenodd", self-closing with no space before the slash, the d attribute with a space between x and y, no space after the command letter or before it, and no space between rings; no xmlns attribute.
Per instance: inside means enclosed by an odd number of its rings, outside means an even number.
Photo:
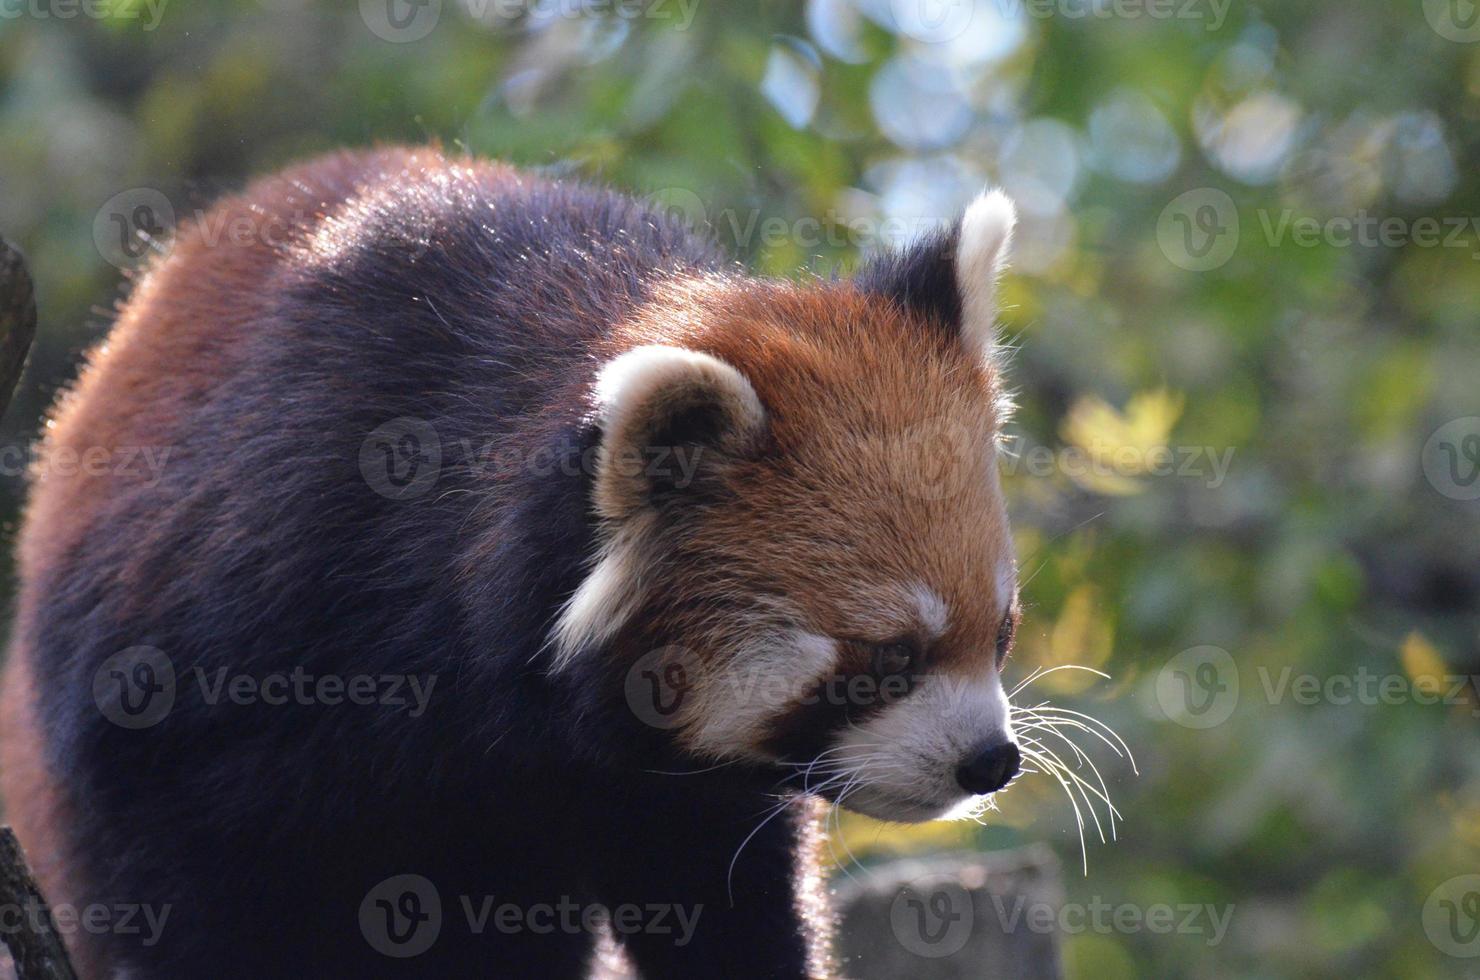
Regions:
<svg viewBox="0 0 1480 980"><path fill-rule="evenodd" d="M762 293L702 280L620 340L712 354L740 369L768 413L771 444L725 468L730 503L665 536L670 577L653 591L666 597L666 626L682 620L685 597L740 589L789 597L830 637L888 641L916 623L881 622L875 595L919 583L950 610L932 665L992 668L1012 598L996 595L1011 537L990 469L995 366L848 284ZM691 635L704 635L712 611L691 613Z"/></svg>

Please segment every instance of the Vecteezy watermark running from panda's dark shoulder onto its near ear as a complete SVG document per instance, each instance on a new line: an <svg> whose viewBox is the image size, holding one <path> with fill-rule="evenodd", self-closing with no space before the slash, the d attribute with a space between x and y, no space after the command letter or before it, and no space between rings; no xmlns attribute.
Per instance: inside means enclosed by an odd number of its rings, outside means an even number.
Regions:
<svg viewBox="0 0 1480 980"><path fill-rule="evenodd" d="M704 456L703 446L645 446L635 453L605 459L598 446L559 438L527 447L500 438L459 437L443 441L437 426L403 416L374 428L360 444L360 475L391 500L411 500L431 491L457 460L457 472L478 480L595 475L599 466L622 477L644 477L665 487L690 486Z"/></svg>

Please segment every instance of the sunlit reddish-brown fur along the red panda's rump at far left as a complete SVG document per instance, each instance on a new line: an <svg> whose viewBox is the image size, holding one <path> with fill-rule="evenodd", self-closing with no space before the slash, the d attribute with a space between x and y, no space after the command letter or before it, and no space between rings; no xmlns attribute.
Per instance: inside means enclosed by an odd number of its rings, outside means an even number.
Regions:
<svg viewBox="0 0 1480 980"><path fill-rule="evenodd" d="M371 170L403 170L414 179L456 169L459 161L435 150L342 152L258 181L241 195L219 201L203 225L181 231L169 261L154 266L120 306L108 339L93 348L77 383L52 412L49 450L81 454L89 447L175 444L191 406L209 398L250 354L252 324L262 315L262 299L269 295L280 262L271 234L283 231L290 241L311 234L324 215L355 192L367 164ZM209 237L209 229L237 222L262 234L234 247L221 247ZM188 370L161 370L185 364ZM87 528L107 523L114 499L108 484L123 478L111 468L65 475L37 469L18 542L19 577L44 580ZM147 551L148 543L141 542L139 552ZM132 571L138 577L120 582L120 592L147 600L154 583L142 567ZM19 622L34 617L37 598L21 592ZM64 851L68 802L52 776L33 702L28 650L16 642L0 684L0 799L47 899L53 905L75 903L89 890L74 873L64 873L64 866L71 865ZM102 976L87 933L67 939L83 976Z"/></svg>

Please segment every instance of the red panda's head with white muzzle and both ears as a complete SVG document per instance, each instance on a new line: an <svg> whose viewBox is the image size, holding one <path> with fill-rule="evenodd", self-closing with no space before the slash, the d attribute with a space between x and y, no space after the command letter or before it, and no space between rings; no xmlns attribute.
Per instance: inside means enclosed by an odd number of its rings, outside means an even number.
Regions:
<svg viewBox="0 0 1480 980"><path fill-rule="evenodd" d="M696 278L626 324L592 395L601 549L552 671L676 666L679 746L795 767L870 816L1000 789L1018 770L996 472L1012 222L987 194L851 281Z"/></svg>

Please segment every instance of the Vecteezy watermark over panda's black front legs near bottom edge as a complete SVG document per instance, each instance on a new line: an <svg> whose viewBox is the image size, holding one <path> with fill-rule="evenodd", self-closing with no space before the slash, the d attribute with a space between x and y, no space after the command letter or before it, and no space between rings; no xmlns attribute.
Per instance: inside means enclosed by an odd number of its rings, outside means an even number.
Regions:
<svg viewBox="0 0 1480 980"><path fill-rule="evenodd" d="M687 946L704 910L703 905L666 902L602 905L555 896L549 902L500 902L497 896L460 894L460 925L472 936L665 936ZM371 949L406 959L425 953L444 928L459 925L444 915L437 885L422 875L394 875L374 885L360 903L360 931Z"/></svg>

